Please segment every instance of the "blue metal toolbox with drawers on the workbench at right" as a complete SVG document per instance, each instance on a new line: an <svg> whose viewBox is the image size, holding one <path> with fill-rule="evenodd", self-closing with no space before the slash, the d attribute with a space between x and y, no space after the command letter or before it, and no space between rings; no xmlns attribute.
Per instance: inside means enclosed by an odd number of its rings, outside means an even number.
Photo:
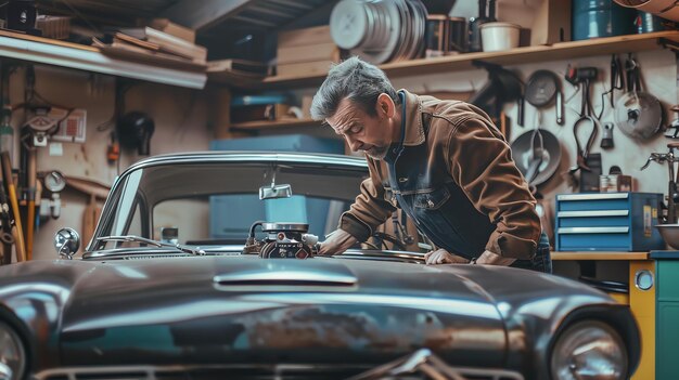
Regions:
<svg viewBox="0 0 679 380"><path fill-rule="evenodd" d="M664 249L655 225L663 195L588 193L556 195L558 251L649 251Z"/></svg>

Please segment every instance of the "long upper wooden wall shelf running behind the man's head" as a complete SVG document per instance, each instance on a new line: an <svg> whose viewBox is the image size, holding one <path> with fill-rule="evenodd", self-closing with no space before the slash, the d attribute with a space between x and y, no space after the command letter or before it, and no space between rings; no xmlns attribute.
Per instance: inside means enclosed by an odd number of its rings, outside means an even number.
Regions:
<svg viewBox="0 0 679 380"><path fill-rule="evenodd" d="M388 63L380 66L390 78L473 69L476 62L502 66L563 61L584 56L640 52L663 49L664 43L679 42L679 30L642 35L594 38L584 41L560 42L553 45L517 48L502 52L479 52L435 58ZM325 75L267 77L261 80L208 74L208 80L244 89L304 88L320 84Z"/></svg>

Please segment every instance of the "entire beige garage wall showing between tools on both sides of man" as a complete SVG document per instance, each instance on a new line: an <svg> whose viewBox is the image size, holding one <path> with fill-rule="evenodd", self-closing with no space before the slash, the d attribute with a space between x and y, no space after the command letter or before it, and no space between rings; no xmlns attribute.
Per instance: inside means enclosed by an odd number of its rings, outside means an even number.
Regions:
<svg viewBox="0 0 679 380"><path fill-rule="evenodd" d="M668 110L669 105L677 103L676 63L675 55L668 51L645 52L638 54L638 61L642 66L642 74L648 89L658 96L667 108L669 120L674 114ZM574 60L572 64L578 66L595 66L602 73L604 81L597 82L592 100L594 106L600 105L600 94L603 83L607 83L607 67L610 56L589 57ZM525 64L509 67L520 73L525 79L534 70L549 68L563 76L568 62L547 62L539 65ZM469 91L477 90L486 81L486 73L482 70L458 71L450 74L435 74L409 78L395 78L394 86L407 88L415 93L427 91ZM18 70L11 77L12 103L23 100L24 91L23 71ZM569 83L562 83L564 99L568 100L575 91ZM36 66L36 89L47 100L65 106L81 107L88 110L87 143L63 143L63 156L50 156L47 148L38 154L38 170L44 171L57 169L66 175L87 176L103 183L111 184L117 175L116 166L106 162L106 146L108 132L99 131L98 127L107 121L113 113L114 79L101 75ZM297 91L298 94L312 94L315 89ZM564 126L554 122L553 107L543 109L543 128L553 132L562 142L562 165L556 175L541 186L548 202L553 202L555 194L569 192L565 181L559 173L567 170L575 160L575 141L572 134L572 126L576 120L576 110L579 109L579 94L566 104ZM213 139L213 131L208 126L207 114L209 96L205 91L175 88L164 84L140 83L132 87L127 93L127 110L144 110L150 114L156 123L156 130L151 143L151 154L164 154L172 152L204 150L208 149L208 143ZM512 120L516 120L516 109L513 104L508 104L505 110ZM20 122L24 119L21 112L14 114L13 126L15 136L18 134ZM613 121L610 109L604 114L604 121ZM530 105L525 109L525 127L512 125L512 139L527 132L535 126L536 113ZM276 133L310 133L319 136L332 136L329 128L308 129L283 129L276 131L262 131L261 134ZM662 135L646 142L631 141L623 135L619 130L614 131L615 148L602 150L599 148L601 131L593 152L602 153L603 169L607 172L612 165L619 166L623 171L635 178L635 189L641 192L665 193L667 185L666 166L652 165L645 171L639 168L645 162L651 152L664 152L668 140ZM581 139L586 139L582 136ZM124 170L139 157L134 152L124 152L120 160L120 169ZM18 154L15 153L14 167L17 165ZM82 211L87 196L66 191L63 193L63 210L59 220L50 220L42 224L36 233L34 258L52 259L55 257L52 248L52 236L55 231L63 226L72 226L81 231Z"/></svg>

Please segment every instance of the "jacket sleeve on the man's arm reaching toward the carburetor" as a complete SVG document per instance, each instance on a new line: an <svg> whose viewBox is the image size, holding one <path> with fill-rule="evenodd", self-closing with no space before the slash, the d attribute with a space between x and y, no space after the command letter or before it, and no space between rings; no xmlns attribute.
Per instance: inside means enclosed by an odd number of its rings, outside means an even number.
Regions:
<svg viewBox="0 0 679 380"><path fill-rule="evenodd" d="M360 194L350 209L340 218L340 228L359 241L368 240L373 231L386 222L396 210L385 198L385 191L377 175L379 169L372 159L368 159L368 167L370 178L361 183Z"/></svg>

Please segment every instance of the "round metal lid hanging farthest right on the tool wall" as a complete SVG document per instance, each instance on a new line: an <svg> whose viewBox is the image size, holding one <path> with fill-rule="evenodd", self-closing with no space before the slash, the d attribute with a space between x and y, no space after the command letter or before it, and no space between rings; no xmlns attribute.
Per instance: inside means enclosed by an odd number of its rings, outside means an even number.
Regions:
<svg viewBox="0 0 679 380"><path fill-rule="evenodd" d="M615 123L628 137L650 139L663 123L661 102L646 92L627 92L615 104Z"/></svg>

